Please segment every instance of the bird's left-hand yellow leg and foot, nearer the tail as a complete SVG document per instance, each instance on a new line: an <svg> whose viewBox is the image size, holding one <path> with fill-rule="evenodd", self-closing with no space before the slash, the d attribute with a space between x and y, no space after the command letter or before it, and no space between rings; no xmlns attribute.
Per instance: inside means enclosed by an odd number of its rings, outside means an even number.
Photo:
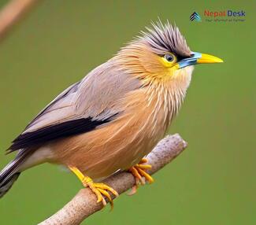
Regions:
<svg viewBox="0 0 256 225"><path fill-rule="evenodd" d="M115 196L118 196L116 190L113 190L113 188L107 186L105 183L94 183L90 177L83 175L83 173L80 172L80 170L76 167L69 166L69 169L78 177L78 179L80 179L84 187L89 187L92 190L92 192L95 193L97 197L97 202L102 201L102 204L105 206L105 196L109 200L111 208L113 208L113 200L110 194L108 193L108 190Z"/></svg>

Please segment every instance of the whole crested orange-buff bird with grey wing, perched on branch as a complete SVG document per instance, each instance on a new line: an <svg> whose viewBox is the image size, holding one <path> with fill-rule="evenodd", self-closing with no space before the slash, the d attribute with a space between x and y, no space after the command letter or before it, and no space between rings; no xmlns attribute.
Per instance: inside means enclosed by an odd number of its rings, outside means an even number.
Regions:
<svg viewBox="0 0 256 225"><path fill-rule="evenodd" d="M0 197L21 172L43 163L69 168L106 205L116 190L102 183L131 172L136 190L153 183L148 153L180 110L194 65L221 58L191 51L179 28L152 22L108 61L68 87L7 149L16 157L0 172Z"/></svg>

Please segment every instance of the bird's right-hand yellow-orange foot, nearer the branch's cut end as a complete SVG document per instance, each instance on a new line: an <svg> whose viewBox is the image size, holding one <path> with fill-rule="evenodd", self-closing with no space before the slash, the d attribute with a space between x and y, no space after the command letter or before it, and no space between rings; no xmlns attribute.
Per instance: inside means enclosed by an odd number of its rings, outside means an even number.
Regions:
<svg viewBox="0 0 256 225"><path fill-rule="evenodd" d="M144 185L146 181L148 183L153 183L154 179L150 176L146 171L149 170L151 167L150 164L146 164L147 159L143 158L139 161L139 164L135 164L132 168L128 169L128 172L131 172L132 175L135 177L135 186L132 186L132 190L129 195L135 194L139 184Z"/></svg>

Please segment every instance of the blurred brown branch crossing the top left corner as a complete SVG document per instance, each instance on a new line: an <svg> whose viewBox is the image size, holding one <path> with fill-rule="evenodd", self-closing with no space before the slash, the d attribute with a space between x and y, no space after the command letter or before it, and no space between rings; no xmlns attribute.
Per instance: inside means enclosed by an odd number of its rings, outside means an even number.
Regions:
<svg viewBox="0 0 256 225"><path fill-rule="evenodd" d="M0 12L0 39L38 0L12 0Z"/></svg>

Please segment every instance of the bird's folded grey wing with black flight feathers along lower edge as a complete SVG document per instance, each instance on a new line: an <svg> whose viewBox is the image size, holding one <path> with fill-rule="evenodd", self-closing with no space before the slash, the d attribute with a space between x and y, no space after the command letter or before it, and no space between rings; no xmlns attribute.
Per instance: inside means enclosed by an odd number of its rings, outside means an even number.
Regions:
<svg viewBox="0 0 256 225"><path fill-rule="evenodd" d="M100 65L63 91L14 139L9 152L94 130L124 109L120 100L141 87L134 76Z"/></svg>

